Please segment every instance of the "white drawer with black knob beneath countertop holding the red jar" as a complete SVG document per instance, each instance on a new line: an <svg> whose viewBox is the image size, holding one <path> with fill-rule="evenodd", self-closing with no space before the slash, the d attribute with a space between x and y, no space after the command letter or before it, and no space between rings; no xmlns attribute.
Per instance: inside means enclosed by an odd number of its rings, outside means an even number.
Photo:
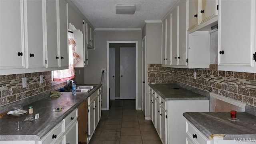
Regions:
<svg viewBox="0 0 256 144"><path fill-rule="evenodd" d="M195 144L207 144L208 138L188 121L186 121L186 133Z"/></svg>

